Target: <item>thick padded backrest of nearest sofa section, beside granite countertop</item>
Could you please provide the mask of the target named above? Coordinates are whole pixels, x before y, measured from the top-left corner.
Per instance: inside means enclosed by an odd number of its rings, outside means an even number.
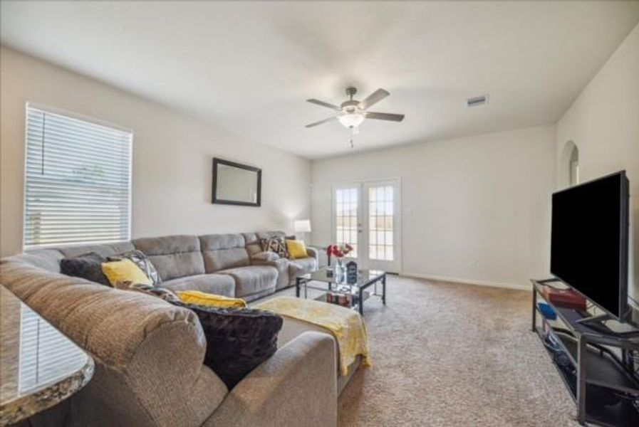
[[[85,349],[93,379],[73,396],[76,425],[196,426],[228,390],[204,367],[197,315],[157,297],[118,290],[18,262],[0,283]]]

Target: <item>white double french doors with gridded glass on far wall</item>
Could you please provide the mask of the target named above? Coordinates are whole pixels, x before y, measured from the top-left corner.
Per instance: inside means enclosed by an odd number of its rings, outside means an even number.
[[[400,273],[400,181],[333,185],[333,239],[360,268]]]

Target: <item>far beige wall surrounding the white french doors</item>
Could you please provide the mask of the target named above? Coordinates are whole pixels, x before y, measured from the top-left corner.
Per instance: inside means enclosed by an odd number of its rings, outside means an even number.
[[[402,272],[529,288],[549,270],[554,127],[313,162],[313,243],[331,241],[331,184],[402,180]]]

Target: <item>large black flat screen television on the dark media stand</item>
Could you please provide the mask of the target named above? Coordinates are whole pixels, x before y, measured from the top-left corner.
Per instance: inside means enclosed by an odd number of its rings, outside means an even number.
[[[551,273],[618,320],[628,313],[628,197],[625,171],[552,197]]]

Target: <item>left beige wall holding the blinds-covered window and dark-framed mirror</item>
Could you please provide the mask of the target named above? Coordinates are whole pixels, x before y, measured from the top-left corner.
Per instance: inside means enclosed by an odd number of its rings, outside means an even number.
[[[7,48],[0,61],[0,255],[21,251],[28,101],[133,129],[133,237],[292,231],[308,218],[308,160]],[[261,208],[211,204],[214,156],[261,167]]]

